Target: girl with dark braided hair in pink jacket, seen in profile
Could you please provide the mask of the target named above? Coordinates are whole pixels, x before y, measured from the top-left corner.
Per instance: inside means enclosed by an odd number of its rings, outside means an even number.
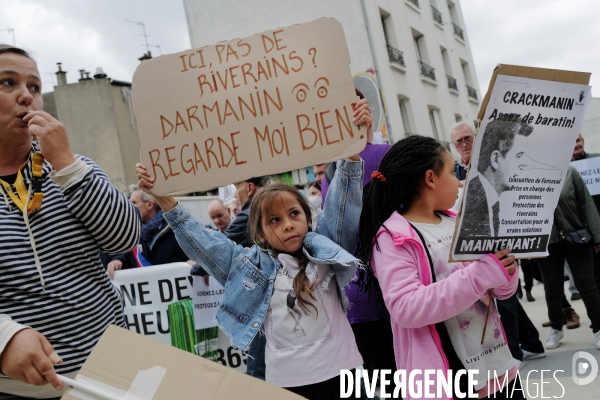
[[[437,370],[446,377],[449,370],[452,377],[479,370],[474,387],[466,374],[453,380],[452,394],[524,398],[490,301],[516,291],[516,263],[510,249],[473,263],[448,261],[456,219],[449,209],[458,185],[454,160],[436,140],[410,136],[394,144],[363,189],[357,252],[366,276],[360,280],[383,296],[399,370]],[[421,382],[424,390],[427,382]],[[428,392],[436,394],[434,388]]]

